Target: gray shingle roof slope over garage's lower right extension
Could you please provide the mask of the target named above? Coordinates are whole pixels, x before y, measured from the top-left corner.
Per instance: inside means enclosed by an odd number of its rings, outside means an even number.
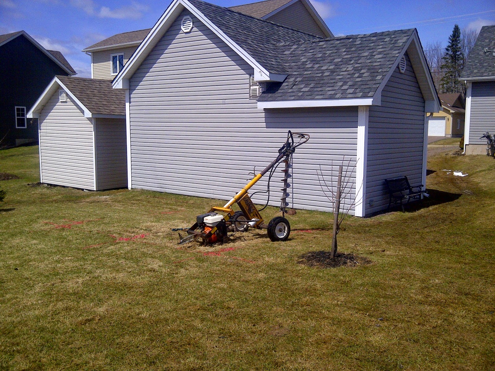
[[[258,101],[371,97],[415,32],[386,31],[279,45],[288,77]]]

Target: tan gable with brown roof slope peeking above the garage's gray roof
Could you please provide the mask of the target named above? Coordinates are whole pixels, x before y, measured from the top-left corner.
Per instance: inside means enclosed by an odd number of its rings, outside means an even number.
[[[230,10],[323,38],[334,35],[308,0],[266,0],[232,6]]]

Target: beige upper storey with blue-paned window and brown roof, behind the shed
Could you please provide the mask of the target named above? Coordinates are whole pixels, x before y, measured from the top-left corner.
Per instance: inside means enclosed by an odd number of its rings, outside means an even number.
[[[83,49],[91,56],[91,78],[112,80],[117,76],[148,32],[124,32]]]

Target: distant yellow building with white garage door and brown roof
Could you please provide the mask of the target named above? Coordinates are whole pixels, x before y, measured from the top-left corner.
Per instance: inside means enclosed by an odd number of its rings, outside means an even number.
[[[428,135],[460,138],[466,110],[461,93],[438,94],[442,108],[428,117]]]

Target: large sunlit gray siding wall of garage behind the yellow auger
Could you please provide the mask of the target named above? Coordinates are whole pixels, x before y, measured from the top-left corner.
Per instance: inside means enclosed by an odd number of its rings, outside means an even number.
[[[344,155],[355,163],[357,107],[267,110],[265,120],[249,98],[252,68],[191,14],[194,29],[182,33],[186,14],[130,79],[132,186],[228,200],[252,178],[254,166],[258,173],[276,157],[291,129],[311,139],[294,155],[289,201],[330,210],[316,171],[321,164],[328,177],[332,160]],[[281,179],[277,171],[271,186],[277,206]],[[265,189],[266,181],[254,189]]]

